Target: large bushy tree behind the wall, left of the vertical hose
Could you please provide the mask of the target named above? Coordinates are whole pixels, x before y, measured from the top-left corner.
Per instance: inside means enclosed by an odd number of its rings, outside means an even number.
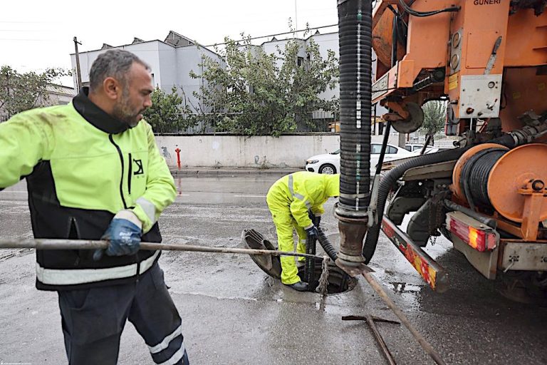
[[[338,60],[333,51],[323,59],[313,38],[306,46],[288,40],[283,50],[271,54],[253,46],[250,37],[243,45],[224,41],[223,63],[204,56],[203,73],[190,73],[204,80],[200,93],[194,92],[197,110],[215,130],[278,136],[295,130],[297,123],[311,124],[314,110],[338,112],[338,99],[318,97],[338,83]]]

